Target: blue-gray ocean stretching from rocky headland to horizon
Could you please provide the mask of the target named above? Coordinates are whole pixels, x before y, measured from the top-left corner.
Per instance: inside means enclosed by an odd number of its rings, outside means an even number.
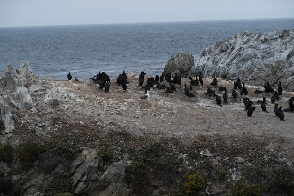
[[[195,61],[218,39],[241,31],[293,29],[294,18],[184,21],[0,28],[0,73],[28,59],[37,76],[67,80],[111,78],[122,70],[161,75],[171,55],[190,52]]]

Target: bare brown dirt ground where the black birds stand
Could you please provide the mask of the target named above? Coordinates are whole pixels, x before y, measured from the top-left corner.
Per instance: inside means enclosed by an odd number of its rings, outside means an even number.
[[[145,76],[143,86],[147,78],[148,76]],[[127,92],[123,92],[122,87],[115,82],[116,79],[111,80],[110,93],[105,93],[98,89],[98,84],[49,81],[52,88],[59,88],[59,92],[54,93],[54,97],[59,99],[59,105],[54,107],[54,112],[42,110],[38,114],[43,122],[52,126],[47,129],[38,127],[42,130],[38,135],[50,137],[52,132],[87,131],[105,137],[110,131],[117,130],[127,131],[136,136],[173,136],[184,143],[191,143],[199,136],[221,135],[232,139],[256,136],[261,140],[282,137],[285,143],[279,145],[289,153],[294,152],[294,113],[284,112],[285,122],[280,121],[274,114],[274,105],[270,103],[272,94],[254,94],[257,87],[245,86],[248,89],[247,96],[240,96],[240,91],[236,90],[238,98],[234,100],[231,95],[233,85],[219,79],[217,88],[211,88],[223,100],[223,92],[218,91],[218,87],[225,86],[229,97],[228,103],[222,102],[220,107],[213,96],[205,95],[212,78],[203,79],[204,87],[192,86],[193,90],[190,92],[198,99],[186,97],[184,94],[184,84],[190,87],[188,78],[182,78],[183,87],[176,85],[177,92],[173,94],[165,93],[165,89],[154,87],[153,90],[151,87],[148,100],[137,100],[144,95],[144,89],[137,87],[138,78],[128,78]],[[169,84],[166,83],[166,86]],[[69,90],[74,92],[75,98],[67,96]],[[43,90],[44,93],[50,91],[50,88]],[[267,99],[266,107],[269,113],[262,112],[260,104],[257,103],[263,96]],[[292,96],[292,92],[283,92],[280,101],[276,103],[282,106],[282,109],[286,109],[288,99]],[[243,111],[244,97],[250,98],[253,102],[252,107],[256,107],[252,117],[247,117],[247,111]],[[39,98],[34,99],[37,101]],[[18,129],[18,134],[20,133],[21,128]],[[271,145],[276,144],[269,142],[269,146]],[[290,155],[294,157],[292,153]]]

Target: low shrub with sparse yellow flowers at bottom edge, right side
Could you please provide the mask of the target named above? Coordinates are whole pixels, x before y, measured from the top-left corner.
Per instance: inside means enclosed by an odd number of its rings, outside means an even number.
[[[247,185],[239,182],[233,187],[229,196],[260,196],[260,188],[258,185]]]

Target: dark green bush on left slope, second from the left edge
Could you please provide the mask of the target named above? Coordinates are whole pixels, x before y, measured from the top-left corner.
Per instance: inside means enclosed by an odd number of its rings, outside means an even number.
[[[23,147],[16,151],[16,155],[19,157],[20,170],[28,170],[34,167],[34,161],[44,152],[44,149],[40,144],[34,141],[26,142]]]

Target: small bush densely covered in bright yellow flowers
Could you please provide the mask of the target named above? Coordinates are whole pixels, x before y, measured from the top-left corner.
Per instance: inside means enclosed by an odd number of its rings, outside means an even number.
[[[188,176],[188,182],[185,182],[183,185],[184,195],[192,196],[199,193],[201,194],[201,190],[203,188],[204,179],[196,174]]]

